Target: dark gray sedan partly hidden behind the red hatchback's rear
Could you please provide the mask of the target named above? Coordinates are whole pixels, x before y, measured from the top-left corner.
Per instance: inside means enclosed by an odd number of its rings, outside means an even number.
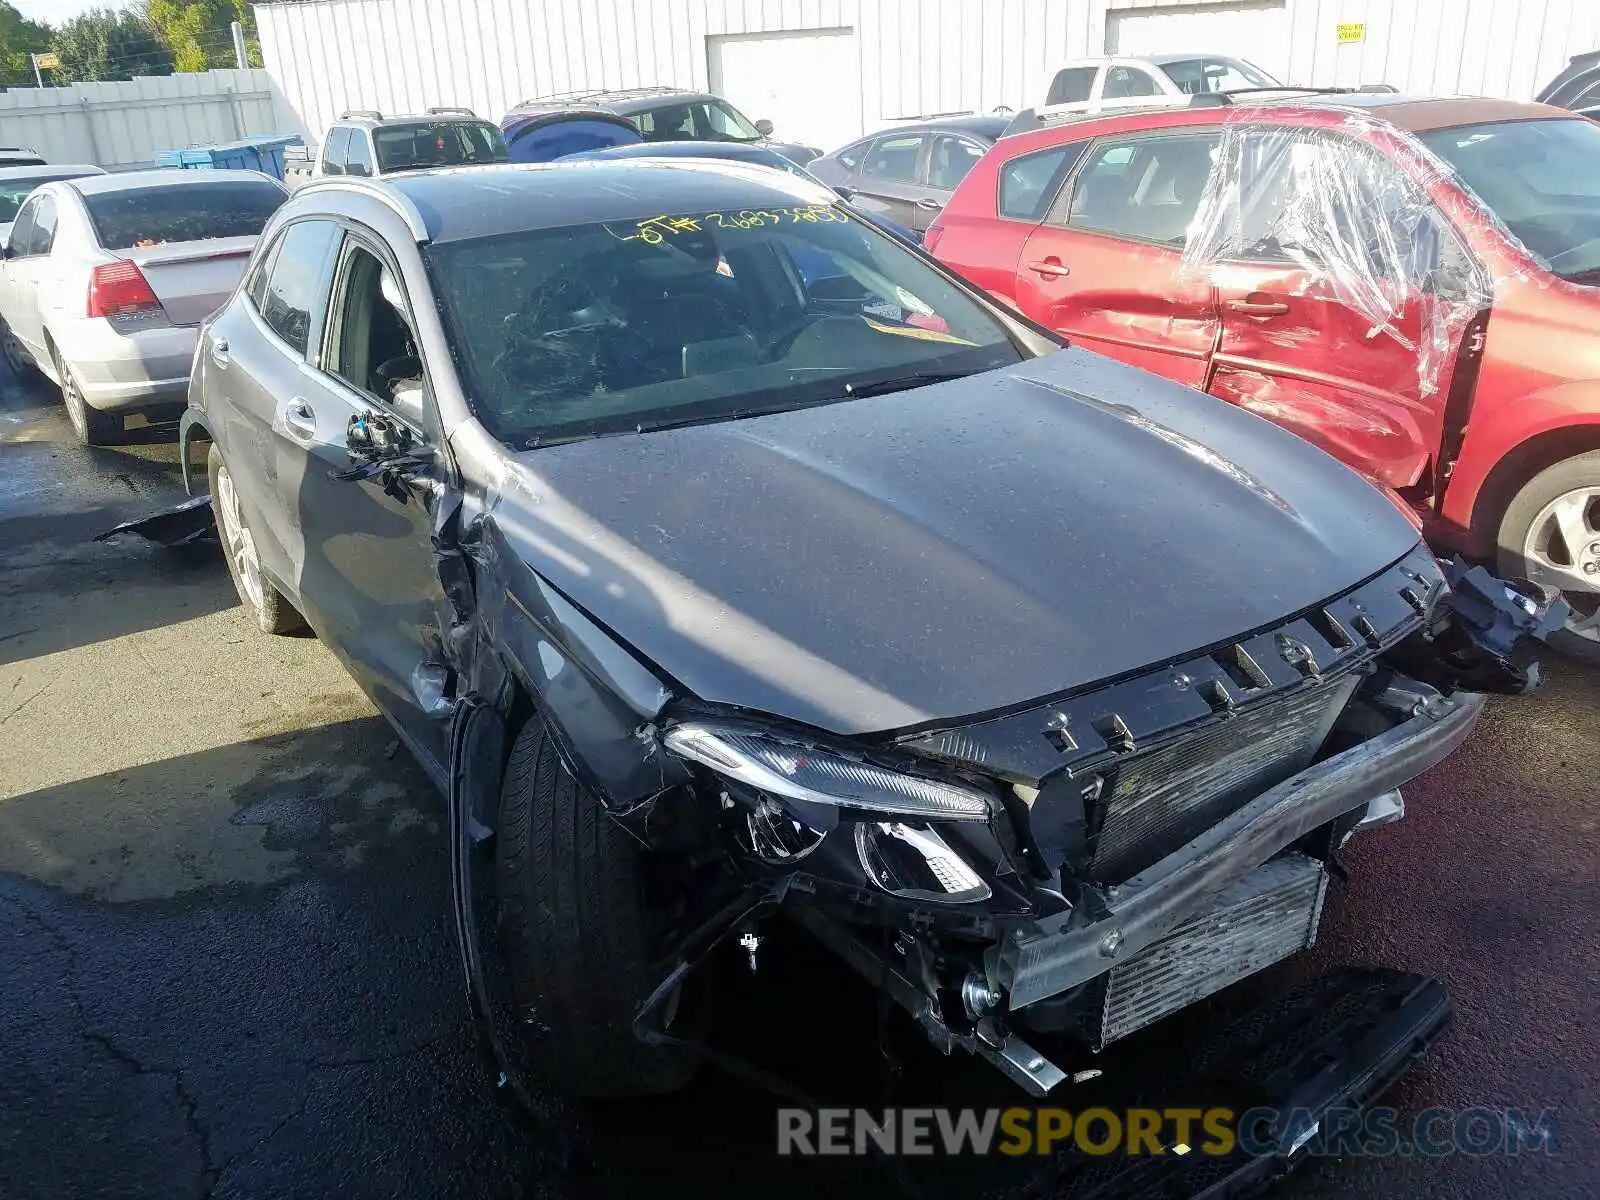
[[[920,234],[1010,123],[1010,115],[990,114],[896,125],[813,158],[806,170]]]

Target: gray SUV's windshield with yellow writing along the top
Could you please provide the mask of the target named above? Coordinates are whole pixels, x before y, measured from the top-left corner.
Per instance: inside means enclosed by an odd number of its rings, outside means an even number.
[[[829,205],[680,213],[427,250],[480,421],[509,445],[779,411],[1022,355]]]

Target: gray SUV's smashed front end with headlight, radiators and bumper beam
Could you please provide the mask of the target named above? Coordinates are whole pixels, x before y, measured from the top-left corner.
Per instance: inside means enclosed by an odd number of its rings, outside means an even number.
[[[1458,590],[1451,589],[1458,586]],[[1411,555],[1312,611],[958,726],[826,744],[680,709],[738,870],[944,1051],[1034,1094],[1312,944],[1339,846],[1403,814],[1560,602]],[[771,906],[768,906],[771,907]]]

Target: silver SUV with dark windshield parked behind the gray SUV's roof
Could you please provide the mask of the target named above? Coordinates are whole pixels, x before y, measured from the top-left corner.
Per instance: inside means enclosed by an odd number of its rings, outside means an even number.
[[[314,178],[472,166],[506,158],[499,126],[472,109],[440,106],[421,117],[386,117],[376,109],[358,109],[328,126]]]

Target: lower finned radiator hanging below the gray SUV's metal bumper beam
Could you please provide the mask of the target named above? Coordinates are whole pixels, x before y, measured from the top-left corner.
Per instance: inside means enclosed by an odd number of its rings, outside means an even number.
[[[1286,854],[1245,875],[1210,912],[1114,966],[1099,1046],[1310,946],[1326,888],[1322,862]]]

